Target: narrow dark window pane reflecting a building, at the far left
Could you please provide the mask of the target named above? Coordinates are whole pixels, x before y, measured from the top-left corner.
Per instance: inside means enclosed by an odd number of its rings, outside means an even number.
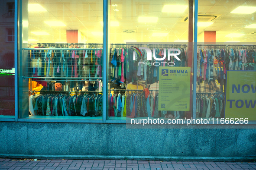
[[[0,117],[14,117],[14,3],[2,0],[0,6]]]

